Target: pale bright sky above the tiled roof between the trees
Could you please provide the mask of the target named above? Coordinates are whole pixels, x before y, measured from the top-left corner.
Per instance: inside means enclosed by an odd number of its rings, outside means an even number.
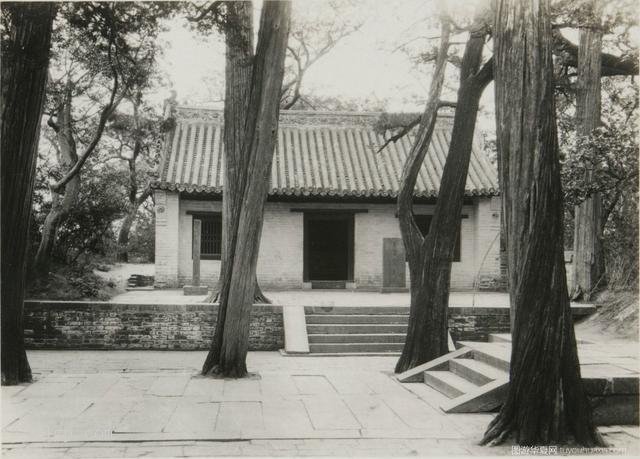
[[[388,111],[421,111],[429,75],[424,69],[416,69],[407,55],[396,48],[412,38],[437,35],[437,24],[434,28],[426,21],[431,19],[433,22],[441,7],[459,16],[460,12],[470,14],[473,3],[476,2],[352,0],[347,13],[351,13],[356,22],[362,21],[363,26],[309,69],[303,91],[331,97],[379,100],[385,102]],[[256,4],[256,14],[259,7]],[[322,0],[294,0],[293,8],[294,15],[307,20],[328,11],[327,2]],[[258,20],[255,23],[257,27]],[[170,31],[162,38],[168,42],[168,47],[161,68],[173,83],[178,101],[202,105],[221,99],[224,87],[222,37],[214,33],[204,38],[190,31],[185,21],[174,20]],[[420,39],[412,42],[412,46],[428,50],[437,43],[437,40]],[[167,95],[168,88],[165,94],[158,94],[161,99]]]

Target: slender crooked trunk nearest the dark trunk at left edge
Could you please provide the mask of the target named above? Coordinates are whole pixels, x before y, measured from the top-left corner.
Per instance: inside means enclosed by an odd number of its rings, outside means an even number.
[[[71,103],[72,87],[71,82],[68,82],[64,94],[60,96],[57,104],[57,123],[49,123],[56,132],[57,160],[65,174],[78,162],[76,143],[73,138]],[[78,201],[80,172],[74,174],[66,185],[62,187],[51,186],[50,190],[51,209],[44,220],[42,239],[34,262],[34,271],[40,276],[49,272],[51,255],[60,223]]]

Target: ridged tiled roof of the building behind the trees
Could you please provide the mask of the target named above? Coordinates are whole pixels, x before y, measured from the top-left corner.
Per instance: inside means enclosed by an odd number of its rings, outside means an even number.
[[[271,170],[271,196],[395,198],[413,135],[389,144],[373,125],[377,113],[282,111]],[[222,192],[222,112],[179,107],[156,189]],[[451,116],[441,116],[416,184],[435,197],[451,140]],[[498,192],[496,171],[474,145],[465,194]]]

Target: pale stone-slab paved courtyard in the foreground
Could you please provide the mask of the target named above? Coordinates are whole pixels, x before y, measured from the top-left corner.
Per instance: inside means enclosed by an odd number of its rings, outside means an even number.
[[[204,352],[30,351],[36,382],[2,388],[3,457],[433,456],[477,446],[489,414],[391,377],[395,357],[250,353],[253,378],[198,376]],[[637,427],[603,429],[636,454]]]

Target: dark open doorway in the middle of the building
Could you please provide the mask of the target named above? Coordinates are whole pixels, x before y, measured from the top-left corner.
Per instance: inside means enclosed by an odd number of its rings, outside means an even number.
[[[353,279],[353,214],[305,213],[304,280]]]

